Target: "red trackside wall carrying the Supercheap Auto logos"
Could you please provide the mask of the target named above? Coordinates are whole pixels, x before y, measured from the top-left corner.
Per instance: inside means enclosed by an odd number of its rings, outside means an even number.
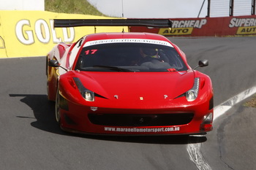
[[[224,18],[174,18],[173,28],[132,27],[131,31],[164,36],[247,36],[256,35],[256,15]]]

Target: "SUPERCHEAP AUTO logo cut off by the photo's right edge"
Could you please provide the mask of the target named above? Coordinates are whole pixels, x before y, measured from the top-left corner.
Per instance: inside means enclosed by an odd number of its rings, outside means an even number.
[[[237,35],[256,34],[256,18],[232,18],[230,28],[238,28]]]

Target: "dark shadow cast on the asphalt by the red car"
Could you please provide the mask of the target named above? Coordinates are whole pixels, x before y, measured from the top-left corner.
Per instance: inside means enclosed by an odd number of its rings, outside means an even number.
[[[86,134],[69,134],[61,131],[55,118],[55,104],[48,101],[46,95],[33,94],[10,94],[10,97],[24,97],[21,102],[28,105],[34,112],[34,117],[18,118],[35,118],[37,121],[32,122],[31,126],[42,131],[48,131],[53,134],[67,136],[76,136],[88,139],[106,140],[114,142],[134,142],[146,144],[193,144],[206,142],[206,136],[186,136],[186,135],[167,135],[167,136],[104,136],[104,135],[86,135]]]

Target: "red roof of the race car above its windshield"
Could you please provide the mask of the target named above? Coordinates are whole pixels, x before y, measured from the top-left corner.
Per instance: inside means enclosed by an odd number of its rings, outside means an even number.
[[[97,33],[86,36],[86,41],[95,41],[100,39],[154,39],[169,42],[165,36],[151,33]]]

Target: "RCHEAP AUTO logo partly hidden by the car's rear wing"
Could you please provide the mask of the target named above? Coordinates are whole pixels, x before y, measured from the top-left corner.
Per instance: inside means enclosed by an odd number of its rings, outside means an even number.
[[[207,20],[173,20],[172,28],[160,28],[159,33],[164,36],[190,35],[194,28],[202,28]]]

